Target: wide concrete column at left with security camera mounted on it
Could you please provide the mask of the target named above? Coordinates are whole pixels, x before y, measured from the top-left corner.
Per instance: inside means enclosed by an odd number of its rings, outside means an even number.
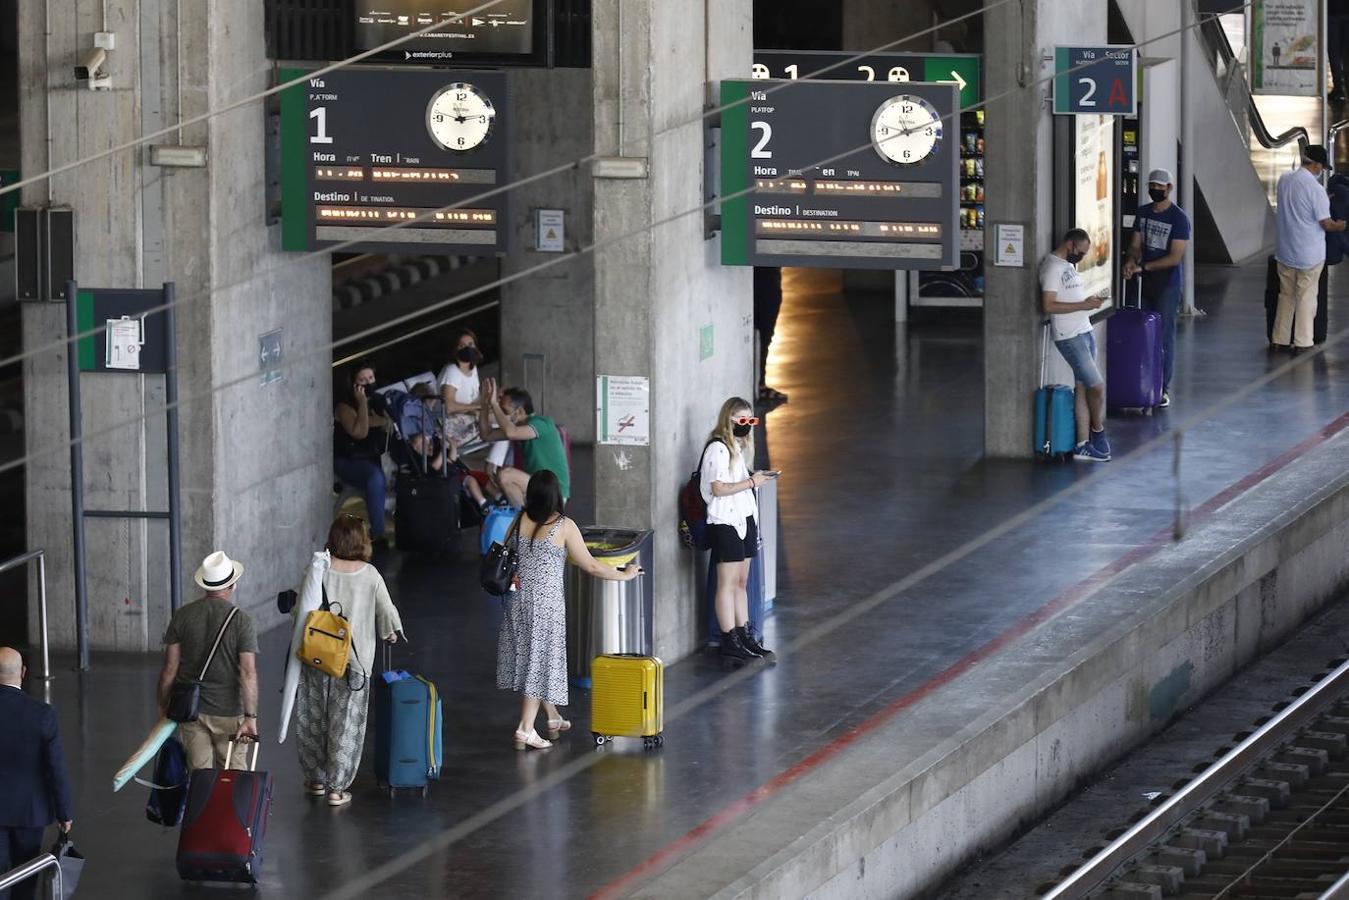
[[[248,0],[161,4],[73,0],[20,4],[23,171],[34,174],[123,143],[147,130],[220,107],[267,86],[263,9]],[[90,92],[70,77],[94,31],[112,31],[113,88]],[[262,104],[193,125],[161,143],[204,146],[205,169],[156,169],[144,148],[80,166],[24,193],[26,202],[76,210],[76,274],[97,287],[174,281],[182,439],[185,599],[197,561],[225,549],[244,561],[239,599],[259,626],[277,621],[277,590],[293,586],[321,545],[331,514],[331,382],[320,355],[262,387],[258,337],[283,328],[295,359],[331,339],[324,259],[297,262],[274,247],[264,210]],[[65,310],[28,305],[24,347],[65,337]],[[51,638],[71,646],[70,514],[65,348],[24,364],[27,532],[47,549]],[[88,509],[165,509],[161,376],[82,379],[85,433],[121,422],[85,444]],[[89,522],[89,623],[96,649],[156,649],[169,614],[167,528],[162,522]],[[30,615],[30,621],[36,621]]]

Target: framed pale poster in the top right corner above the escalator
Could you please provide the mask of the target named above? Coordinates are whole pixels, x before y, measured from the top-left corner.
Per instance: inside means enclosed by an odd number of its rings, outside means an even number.
[[[1251,5],[1251,90],[1315,97],[1318,0],[1255,0]]]

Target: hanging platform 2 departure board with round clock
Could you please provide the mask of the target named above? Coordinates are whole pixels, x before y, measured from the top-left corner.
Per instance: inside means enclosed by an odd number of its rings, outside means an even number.
[[[722,263],[954,269],[958,86],[782,84],[722,82]]]

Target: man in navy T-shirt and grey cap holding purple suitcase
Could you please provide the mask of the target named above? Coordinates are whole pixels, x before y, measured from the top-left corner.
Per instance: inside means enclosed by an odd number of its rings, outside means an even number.
[[[1190,243],[1190,217],[1171,202],[1171,173],[1153,169],[1148,174],[1152,202],[1139,208],[1124,277],[1143,275],[1143,305],[1161,313],[1161,405],[1171,405],[1171,375],[1175,372],[1176,316],[1184,285],[1182,260]]]

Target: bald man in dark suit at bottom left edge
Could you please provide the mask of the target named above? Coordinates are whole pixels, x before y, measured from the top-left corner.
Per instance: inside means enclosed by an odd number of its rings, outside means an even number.
[[[70,831],[73,818],[57,711],[23,692],[23,675],[19,652],[0,646],[0,872],[40,855],[42,830],[59,822]],[[35,889],[30,878],[13,888],[13,900]]]

